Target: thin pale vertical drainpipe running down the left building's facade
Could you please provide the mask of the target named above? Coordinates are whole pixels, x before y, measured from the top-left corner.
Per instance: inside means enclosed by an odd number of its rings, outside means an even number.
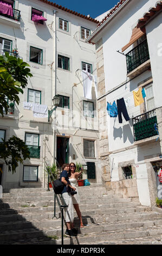
[[[54,40],[54,66],[55,66],[55,70],[54,70],[54,75],[55,75],[55,78],[54,78],[54,89],[53,89],[53,93],[55,96],[56,95],[56,92],[57,92],[57,36],[56,36],[56,11],[57,10],[53,10],[53,13],[54,13],[54,36],[55,36],[55,40]],[[56,115],[56,111],[54,111],[54,115]],[[55,124],[55,118],[54,118],[54,124]],[[56,153],[56,129],[55,129],[55,125],[53,127],[53,163],[55,163],[55,153]]]

